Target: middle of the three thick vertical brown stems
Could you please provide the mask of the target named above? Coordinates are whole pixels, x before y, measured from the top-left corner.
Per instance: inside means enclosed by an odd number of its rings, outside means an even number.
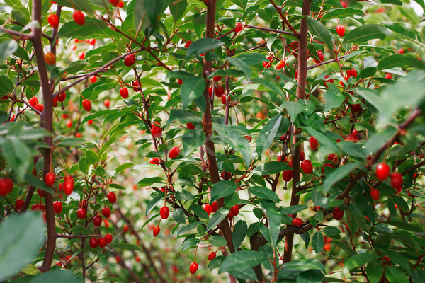
[[[215,5],[216,0],[210,0],[207,4],[207,31],[206,36],[208,38],[214,38],[214,27],[215,27]],[[211,61],[205,61],[202,76],[207,78],[208,74],[211,73],[212,70],[212,62]],[[208,94],[208,82],[205,86],[204,90],[204,97],[206,101],[206,110],[203,114],[203,131],[205,132],[205,151],[207,153],[208,158],[208,171],[210,172],[210,178],[212,183],[217,183],[220,181],[220,177],[218,175],[218,167],[217,167],[217,160],[215,157],[215,146],[214,143],[211,140],[212,137],[212,116],[211,116],[211,108],[210,108],[210,95]],[[214,95],[212,96],[212,99],[214,99]],[[217,207],[224,206],[224,200],[221,198],[217,200]],[[227,241],[227,247],[230,250],[230,253],[234,253],[234,246],[232,243],[232,230],[230,229],[229,222],[227,221],[227,218],[225,218],[220,223],[220,229],[222,230],[223,236],[225,237]]]

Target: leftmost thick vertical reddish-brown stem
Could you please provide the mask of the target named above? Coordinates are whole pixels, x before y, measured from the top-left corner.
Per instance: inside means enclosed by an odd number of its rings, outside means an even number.
[[[41,0],[33,1],[33,21],[37,21],[41,27]],[[35,59],[38,65],[38,74],[40,76],[40,85],[42,89],[42,97],[44,110],[41,115],[41,127],[47,129],[50,133],[53,132],[53,112],[52,112],[52,92],[50,91],[49,78],[47,68],[42,51],[41,30],[33,28],[32,40],[35,51]],[[45,143],[50,148],[44,150],[44,168],[43,175],[50,172],[52,169],[52,135],[45,136]],[[47,222],[47,246],[45,258],[42,262],[41,270],[50,270],[55,253],[56,246],[56,231],[55,231],[55,213],[53,212],[53,196],[45,192],[45,207],[46,207],[46,222]]]

